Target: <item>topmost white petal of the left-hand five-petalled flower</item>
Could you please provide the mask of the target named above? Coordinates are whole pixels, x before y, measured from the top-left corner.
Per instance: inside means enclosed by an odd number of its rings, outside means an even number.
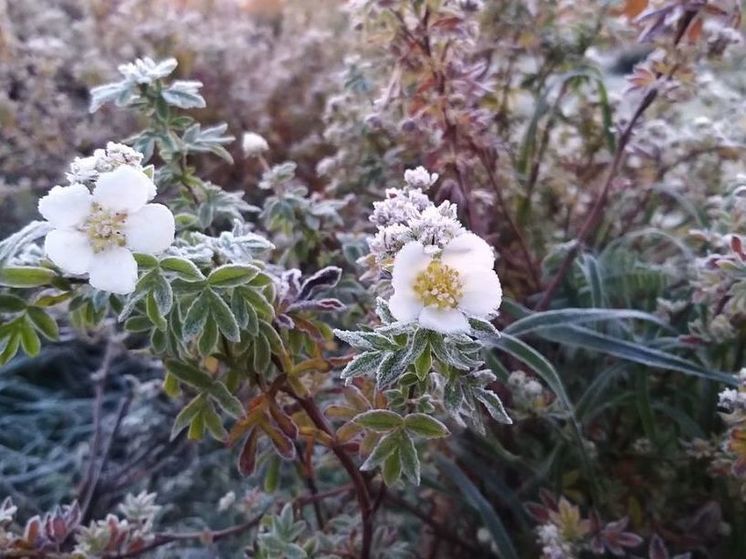
[[[115,212],[136,212],[148,201],[155,186],[148,175],[122,165],[101,173],[93,189],[93,200]]]

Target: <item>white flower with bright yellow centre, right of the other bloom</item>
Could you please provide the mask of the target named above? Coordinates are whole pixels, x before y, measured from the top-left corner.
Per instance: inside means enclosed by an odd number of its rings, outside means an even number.
[[[459,235],[438,256],[417,241],[407,243],[394,259],[391,312],[443,334],[468,332],[467,317],[486,318],[500,307],[494,262],[490,246],[473,233]]]

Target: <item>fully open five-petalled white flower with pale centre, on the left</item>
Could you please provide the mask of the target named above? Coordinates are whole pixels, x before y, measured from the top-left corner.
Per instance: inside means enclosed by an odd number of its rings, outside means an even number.
[[[39,201],[54,229],[44,250],[68,274],[88,274],[93,287],[130,293],[137,282],[132,252],[156,254],[174,240],[174,216],[148,204],[155,185],[142,171],[121,166],[101,173],[91,194],[84,185],[55,186]]]

